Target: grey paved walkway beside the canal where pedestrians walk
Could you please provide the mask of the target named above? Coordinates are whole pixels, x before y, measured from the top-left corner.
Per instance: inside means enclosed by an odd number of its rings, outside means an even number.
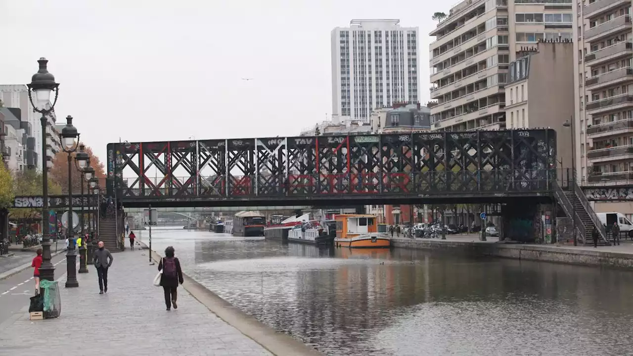
[[[104,295],[94,267],[77,275],[79,288],[63,288],[61,278],[58,319],[29,321],[25,296],[20,315],[0,324],[0,355],[272,355],[182,287],[179,308],[167,312],[163,289],[152,284],[158,270],[148,265],[148,252],[115,253]]]

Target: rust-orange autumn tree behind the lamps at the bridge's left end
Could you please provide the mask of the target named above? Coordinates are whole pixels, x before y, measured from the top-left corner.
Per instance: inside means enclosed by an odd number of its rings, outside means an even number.
[[[86,146],[85,151],[90,157],[90,165],[94,168],[94,174],[99,178],[99,185],[104,187],[106,185],[106,174],[104,171],[103,163],[99,161],[99,157],[92,153],[92,149]],[[81,193],[82,174],[77,170],[75,165],[75,156],[77,152],[71,154],[71,177],[72,177],[72,191],[73,194]],[[61,187],[62,194],[68,194],[68,153],[59,151],[53,159],[53,167],[49,174],[55,184]],[[87,193],[86,186],[84,185],[84,193]]]

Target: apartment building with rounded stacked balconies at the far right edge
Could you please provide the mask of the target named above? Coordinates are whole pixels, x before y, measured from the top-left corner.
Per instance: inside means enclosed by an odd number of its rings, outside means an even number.
[[[583,185],[633,179],[631,1],[577,3],[577,162]],[[633,213],[630,203],[596,203],[597,212]]]

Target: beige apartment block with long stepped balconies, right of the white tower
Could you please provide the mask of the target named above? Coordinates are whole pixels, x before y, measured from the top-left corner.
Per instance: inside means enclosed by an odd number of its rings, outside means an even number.
[[[451,8],[430,33],[432,129],[505,129],[510,62],[572,32],[572,0],[466,0]]]

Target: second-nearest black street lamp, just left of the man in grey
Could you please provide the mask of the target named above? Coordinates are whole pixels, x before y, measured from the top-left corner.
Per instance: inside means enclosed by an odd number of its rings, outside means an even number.
[[[72,184],[72,153],[77,151],[79,143],[79,133],[73,126],[73,117],[66,117],[66,126],[61,129],[61,139],[64,152],[68,153],[68,227],[66,227],[66,238],[68,239],[68,252],[66,252],[66,267],[68,277],[66,288],[78,287],[77,281],[77,252],[75,251],[75,231],[73,229],[73,184]],[[85,162],[84,162],[85,164]]]

